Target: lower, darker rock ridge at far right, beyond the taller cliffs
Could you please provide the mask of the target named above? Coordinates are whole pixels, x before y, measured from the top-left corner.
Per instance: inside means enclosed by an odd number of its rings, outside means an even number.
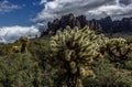
[[[98,20],[106,33],[132,32],[132,18],[123,18],[121,21],[112,21],[110,17]]]

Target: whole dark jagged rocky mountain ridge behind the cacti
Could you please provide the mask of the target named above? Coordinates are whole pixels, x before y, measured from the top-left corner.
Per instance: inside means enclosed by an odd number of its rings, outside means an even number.
[[[121,21],[112,21],[110,17],[100,20],[87,20],[85,15],[75,17],[73,13],[63,15],[47,23],[47,30],[41,36],[46,34],[55,34],[57,30],[64,30],[67,25],[84,28],[89,25],[91,30],[103,33],[132,32],[132,18],[123,18]]]

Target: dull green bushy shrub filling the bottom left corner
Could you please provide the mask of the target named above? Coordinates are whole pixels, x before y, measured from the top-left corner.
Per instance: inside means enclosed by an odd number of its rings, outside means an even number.
[[[0,85],[3,87],[41,87],[37,84],[42,77],[37,63],[28,53],[0,57]]]

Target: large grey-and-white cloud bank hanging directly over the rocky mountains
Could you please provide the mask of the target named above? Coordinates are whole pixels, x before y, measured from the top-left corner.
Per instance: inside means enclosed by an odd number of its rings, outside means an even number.
[[[42,0],[41,4],[44,9],[33,21],[48,21],[68,13],[85,14],[87,19],[132,17],[132,0]]]

